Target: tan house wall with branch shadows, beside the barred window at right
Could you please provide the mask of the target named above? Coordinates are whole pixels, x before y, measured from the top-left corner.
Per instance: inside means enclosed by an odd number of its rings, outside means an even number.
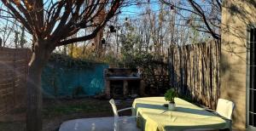
[[[246,128],[247,26],[256,24],[256,0],[224,0],[220,98],[236,104],[233,127]]]

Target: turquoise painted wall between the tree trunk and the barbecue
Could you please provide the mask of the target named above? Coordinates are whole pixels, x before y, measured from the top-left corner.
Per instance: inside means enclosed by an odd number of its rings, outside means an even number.
[[[106,64],[67,67],[49,62],[42,74],[44,98],[77,98],[100,94],[104,90]]]

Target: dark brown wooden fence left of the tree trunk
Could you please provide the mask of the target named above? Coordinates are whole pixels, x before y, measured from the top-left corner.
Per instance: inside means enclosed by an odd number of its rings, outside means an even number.
[[[25,104],[29,53],[25,48],[0,48],[0,115]]]

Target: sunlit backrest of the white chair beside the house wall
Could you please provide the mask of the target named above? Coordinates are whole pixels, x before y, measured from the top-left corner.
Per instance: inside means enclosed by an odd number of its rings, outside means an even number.
[[[218,99],[218,105],[217,105],[216,111],[220,116],[231,120],[234,109],[235,109],[235,104],[232,101]]]

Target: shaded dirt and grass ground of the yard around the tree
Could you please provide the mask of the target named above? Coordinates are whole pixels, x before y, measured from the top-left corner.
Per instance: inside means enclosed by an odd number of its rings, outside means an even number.
[[[127,100],[116,101],[118,109],[131,106]],[[44,100],[43,130],[57,131],[62,122],[86,117],[112,117],[113,110],[108,100],[84,98],[79,100]],[[126,111],[121,115],[131,115]],[[0,131],[25,131],[26,109],[19,108],[0,116]]]

